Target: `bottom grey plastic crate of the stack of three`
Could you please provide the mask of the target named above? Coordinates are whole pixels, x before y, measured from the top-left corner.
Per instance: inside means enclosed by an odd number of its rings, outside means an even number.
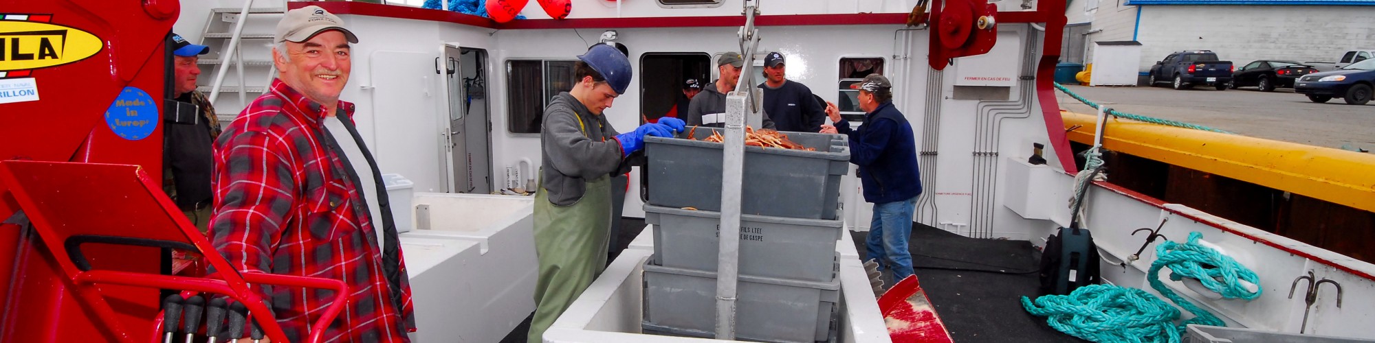
[[[716,273],[645,262],[644,329],[710,336],[716,327]],[[826,342],[840,302],[840,279],[810,283],[740,276],[736,338]]]

